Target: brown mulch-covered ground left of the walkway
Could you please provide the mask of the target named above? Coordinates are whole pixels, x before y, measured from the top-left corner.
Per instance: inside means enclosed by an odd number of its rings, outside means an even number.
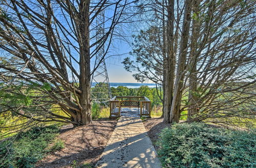
[[[99,160],[116,122],[93,121],[90,125],[74,129],[72,125],[63,127],[58,138],[65,142],[65,148],[48,155],[36,167],[93,167]]]

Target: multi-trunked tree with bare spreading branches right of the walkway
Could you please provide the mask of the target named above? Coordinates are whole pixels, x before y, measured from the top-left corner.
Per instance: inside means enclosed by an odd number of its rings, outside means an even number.
[[[148,2],[148,3],[145,3]],[[253,1],[140,1],[148,24],[123,61],[163,88],[164,121],[243,123],[255,106]]]

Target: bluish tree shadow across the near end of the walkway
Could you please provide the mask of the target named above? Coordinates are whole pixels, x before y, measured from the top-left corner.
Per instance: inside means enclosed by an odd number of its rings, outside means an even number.
[[[145,133],[108,145],[98,162],[100,167],[160,167],[156,151]],[[129,153],[133,155],[129,155]],[[154,166],[152,166],[154,165]],[[157,166],[158,165],[158,166]]]

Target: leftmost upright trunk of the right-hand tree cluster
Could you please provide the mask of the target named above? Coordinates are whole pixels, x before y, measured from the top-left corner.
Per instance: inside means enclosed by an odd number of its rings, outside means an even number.
[[[168,1],[167,18],[167,58],[165,74],[165,93],[164,93],[164,119],[163,122],[169,123],[170,107],[173,100],[174,71],[175,71],[175,53],[174,53],[174,1]]]

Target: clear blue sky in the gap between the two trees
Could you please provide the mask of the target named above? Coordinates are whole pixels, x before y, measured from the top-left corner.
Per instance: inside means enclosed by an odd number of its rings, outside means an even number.
[[[133,8],[131,8],[130,10],[133,10]],[[105,10],[104,15],[108,18],[111,18],[113,15],[113,11],[111,10],[111,8],[109,10]],[[109,24],[110,22],[106,21],[105,28],[108,27]],[[127,72],[121,62],[124,58],[130,57],[129,52],[132,50],[130,44],[133,41],[133,38],[131,37],[133,34],[136,34],[137,31],[139,31],[140,29],[141,25],[138,25],[137,23],[121,23],[116,27],[115,31],[117,32],[117,36],[113,37],[111,48],[109,49],[108,54],[105,57],[105,63],[108,70],[110,82],[137,82],[137,80],[135,80],[132,76],[132,74],[136,72]],[[126,40],[118,35],[124,35]],[[95,64],[94,60],[95,58],[91,60],[92,68]],[[152,81],[146,80],[145,83],[152,83]]]

